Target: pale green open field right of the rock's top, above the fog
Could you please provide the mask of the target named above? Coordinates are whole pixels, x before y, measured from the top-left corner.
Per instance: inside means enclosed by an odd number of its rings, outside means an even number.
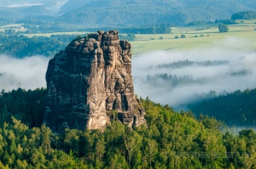
[[[187,26],[173,27],[171,34],[137,34],[137,40],[131,42],[134,55],[154,50],[181,50],[189,48],[209,47],[212,43],[228,37],[247,39],[256,44],[256,24],[229,25],[229,32],[219,33],[218,26]],[[178,38],[185,35],[186,38]],[[197,37],[195,37],[197,36]],[[163,37],[162,40],[159,38]],[[150,40],[149,38],[154,38]],[[249,45],[245,50],[256,50],[256,46]]]

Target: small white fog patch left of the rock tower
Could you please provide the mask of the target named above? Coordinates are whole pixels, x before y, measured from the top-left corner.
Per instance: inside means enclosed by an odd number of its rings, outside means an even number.
[[[45,72],[49,58],[42,56],[15,59],[0,55],[0,90],[9,91],[18,87],[35,89],[46,87]]]

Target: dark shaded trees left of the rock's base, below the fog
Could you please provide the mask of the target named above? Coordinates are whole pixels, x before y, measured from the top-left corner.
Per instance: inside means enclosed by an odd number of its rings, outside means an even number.
[[[1,124],[10,116],[26,123],[29,127],[40,127],[46,106],[46,89],[24,90],[18,88],[0,95]]]

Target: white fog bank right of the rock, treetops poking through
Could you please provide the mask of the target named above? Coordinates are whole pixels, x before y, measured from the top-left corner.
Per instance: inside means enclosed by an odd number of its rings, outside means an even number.
[[[132,59],[135,93],[179,109],[195,101],[195,94],[254,88],[256,52],[244,50],[252,45],[256,46],[245,39],[227,38],[212,48],[140,54]]]

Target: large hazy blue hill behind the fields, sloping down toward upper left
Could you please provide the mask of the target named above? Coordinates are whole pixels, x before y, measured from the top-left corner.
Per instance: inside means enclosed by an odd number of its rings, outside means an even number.
[[[79,8],[79,0],[62,7],[76,8],[62,14],[60,21],[88,27],[173,23],[185,25],[195,20],[230,19],[232,14],[256,9],[253,0],[89,0]]]

